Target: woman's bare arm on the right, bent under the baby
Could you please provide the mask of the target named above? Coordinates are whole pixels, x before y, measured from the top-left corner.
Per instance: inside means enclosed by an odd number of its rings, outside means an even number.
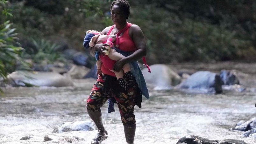
[[[146,40],[140,27],[133,24],[129,29],[129,35],[137,49],[130,56],[118,60],[113,67],[113,71],[119,72],[124,64],[139,60],[143,56],[146,56]]]

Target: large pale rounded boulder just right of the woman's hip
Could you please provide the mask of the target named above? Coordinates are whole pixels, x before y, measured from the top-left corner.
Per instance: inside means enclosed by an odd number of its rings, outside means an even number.
[[[151,73],[148,69],[142,69],[146,84],[154,90],[171,89],[181,82],[181,77],[170,67],[164,64],[150,65]]]

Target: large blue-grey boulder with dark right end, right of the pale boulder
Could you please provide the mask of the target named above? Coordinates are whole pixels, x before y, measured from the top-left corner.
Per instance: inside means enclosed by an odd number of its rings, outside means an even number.
[[[175,86],[175,89],[194,89],[211,93],[222,93],[222,85],[223,81],[219,74],[209,71],[199,71],[193,73],[178,86]]]

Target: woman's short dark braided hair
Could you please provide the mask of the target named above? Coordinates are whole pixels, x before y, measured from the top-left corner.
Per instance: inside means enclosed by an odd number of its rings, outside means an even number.
[[[116,0],[112,2],[110,10],[114,5],[118,5],[123,10],[125,18],[128,19],[130,16],[130,4],[126,0]]]

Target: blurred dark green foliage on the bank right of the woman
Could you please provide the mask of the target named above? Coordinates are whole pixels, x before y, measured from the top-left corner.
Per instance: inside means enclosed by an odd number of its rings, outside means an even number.
[[[146,36],[150,64],[256,60],[253,17],[247,17],[245,25],[245,21],[239,20],[241,15],[231,12],[251,6],[241,1],[236,4],[226,10],[218,7],[224,8],[229,1],[148,1],[132,8],[131,21]]]

